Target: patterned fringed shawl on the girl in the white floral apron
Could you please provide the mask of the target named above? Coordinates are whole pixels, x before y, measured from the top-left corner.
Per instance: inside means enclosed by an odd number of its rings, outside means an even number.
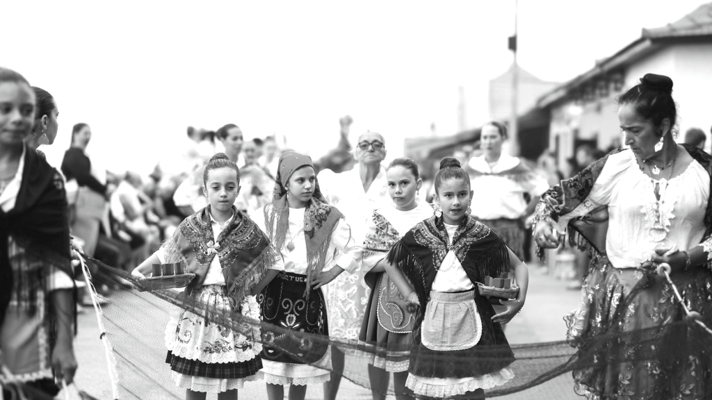
[[[199,288],[213,258],[220,260],[227,295],[234,307],[259,283],[267,268],[281,257],[247,214],[236,209],[229,225],[213,240],[210,206],[184,219],[173,237],[162,244],[167,263],[184,262],[196,274],[187,291]]]

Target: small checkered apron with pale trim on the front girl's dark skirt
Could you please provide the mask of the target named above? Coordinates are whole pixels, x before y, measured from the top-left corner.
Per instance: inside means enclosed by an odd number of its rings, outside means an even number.
[[[450,352],[470,349],[480,341],[482,320],[475,292],[430,292],[425,308],[420,340],[431,350]]]

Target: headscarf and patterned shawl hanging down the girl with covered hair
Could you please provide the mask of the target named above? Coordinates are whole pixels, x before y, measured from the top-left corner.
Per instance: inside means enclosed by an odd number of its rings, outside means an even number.
[[[265,206],[267,234],[276,248],[281,249],[289,228],[289,204],[286,185],[292,174],[301,167],[314,167],[309,156],[297,152],[284,152],[279,157],[272,204]],[[307,295],[315,273],[324,269],[331,233],[343,215],[326,203],[319,181],[315,180],[314,192],[304,211],[304,238],[307,246]]]

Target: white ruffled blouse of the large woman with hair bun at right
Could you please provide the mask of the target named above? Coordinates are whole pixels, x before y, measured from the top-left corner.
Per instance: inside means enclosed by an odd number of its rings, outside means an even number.
[[[687,250],[700,243],[709,187],[709,175],[696,161],[669,181],[653,181],[640,170],[633,152],[625,150],[608,157],[588,198],[562,216],[559,226],[563,231],[570,219],[608,206],[607,256],[615,268],[634,268],[657,247]]]

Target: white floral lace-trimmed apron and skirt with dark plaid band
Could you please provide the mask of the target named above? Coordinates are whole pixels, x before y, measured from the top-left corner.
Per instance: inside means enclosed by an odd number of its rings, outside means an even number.
[[[224,285],[205,285],[193,295],[216,312],[236,311],[259,320],[254,296],[246,296],[240,310],[231,310]],[[172,318],[166,328],[166,362],[171,365],[177,386],[220,393],[260,379],[260,329],[257,323],[244,328],[237,332],[186,310]]]

